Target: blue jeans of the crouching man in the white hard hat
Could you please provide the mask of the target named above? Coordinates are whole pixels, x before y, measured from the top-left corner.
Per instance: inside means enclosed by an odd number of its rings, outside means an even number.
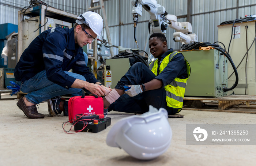
[[[64,72],[76,79],[86,80],[82,75],[67,71]],[[27,100],[34,104],[39,104],[47,99],[66,94],[72,94],[72,97],[82,95],[82,89],[80,88],[67,89],[48,80],[45,70],[37,73],[33,78],[26,80],[23,84],[21,82],[17,82],[17,84],[19,84],[22,92],[28,93],[26,95]]]

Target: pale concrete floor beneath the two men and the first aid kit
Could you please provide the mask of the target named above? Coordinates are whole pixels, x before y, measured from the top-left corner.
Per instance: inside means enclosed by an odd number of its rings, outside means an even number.
[[[109,147],[106,136],[121,118],[133,114],[110,112],[111,125],[99,133],[67,134],[68,117],[48,116],[47,102],[39,105],[44,119],[28,119],[16,106],[16,96],[1,94],[1,166],[254,166],[256,145],[186,145],[186,124],[255,124],[256,114],[182,110],[184,118],[169,118],[173,137],[169,149],[151,161],[140,161],[123,149]],[[70,127],[70,124],[67,125]]]

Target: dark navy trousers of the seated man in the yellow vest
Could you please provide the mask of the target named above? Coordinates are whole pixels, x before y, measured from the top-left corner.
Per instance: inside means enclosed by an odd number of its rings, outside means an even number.
[[[155,74],[143,63],[137,62],[129,68],[128,72],[120,79],[116,89],[125,90],[125,85],[138,85],[150,82],[155,78]],[[161,107],[166,109],[169,115],[176,114],[178,109],[167,106],[165,88],[145,91],[134,97],[127,94],[121,95],[115,102],[109,106],[109,110],[127,113],[145,113],[148,112],[149,105],[157,109]]]

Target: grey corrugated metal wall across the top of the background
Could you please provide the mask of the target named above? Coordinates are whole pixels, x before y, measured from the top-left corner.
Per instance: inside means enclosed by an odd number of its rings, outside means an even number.
[[[178,16],[178,22],[187,21],[187,9],[189,0],[157,0],[165,7],[168,14]],[[79,15],[86,11],[87,0],[44,0],[48,5],[61,9],[65,12]],[[99,2],[94,3],[94,6]],[[112,44],[125,48],[136,48],[133,38],[134,28],[132,21],[132,4],[130,0],[105,0],[104,1],[108,26]],[[18,11],[29,6],[29,0],[0,0],[0,24],[18,24]],[[218,41],[218,25],[227,20],[237,17],[256,14],[256,0],[191,0],[191,23],[193,33],[198,36],[198,41]],[[238,12],[237,12],[238,11]],[[96,10],[102,15],[101,10]],[[150,15],[143,10],[142,17],[136,28],[136,38],[140,49],[148,52],[148,20]],[[173,29],[167,29],[166,38],[168,47],[176,50],[181,48],[180,42],[173,41]],[[106,31],[103,30],[103,38],[107,39]],[[117,54],[118,50],[114,48]]]

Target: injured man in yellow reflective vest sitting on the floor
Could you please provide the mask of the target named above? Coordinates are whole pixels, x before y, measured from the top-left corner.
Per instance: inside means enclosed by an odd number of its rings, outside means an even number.
[[[149,105],[165,108],[169,115],[181,111],[190,66],[180,52],[167,49],[165,35],[152,34],[148,45],[156,60],[149,68],[140,62],[132,65],[103,98],[105,113],[108,110],[144,113]]]

